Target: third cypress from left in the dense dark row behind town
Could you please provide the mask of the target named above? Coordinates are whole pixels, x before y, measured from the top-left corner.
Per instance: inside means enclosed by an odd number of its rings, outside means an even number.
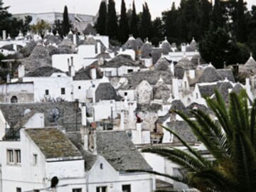
[[[121,43],[125,43],[127,38],[129,37],[129,26],[127,19],[127,11],[124,0],[122,0],[121,4],[121,16],[119,20],[119,41]]]

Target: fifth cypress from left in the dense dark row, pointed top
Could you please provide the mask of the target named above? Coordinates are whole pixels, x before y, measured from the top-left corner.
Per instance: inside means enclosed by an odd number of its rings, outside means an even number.
[[[139,33],[140,37],[142,39],[145,38],[151,38],[151,28],[152,28],[152,23],[151,23],[151,14],[149,12],[149,7],[148,5],[145,4],[143,5],[143,11],[142,11],[142,21],[140,23],[139,27]]]

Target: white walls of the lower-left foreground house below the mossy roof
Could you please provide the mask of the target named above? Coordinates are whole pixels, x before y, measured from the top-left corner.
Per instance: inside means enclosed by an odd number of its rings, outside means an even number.
[[[34,144],[24,129],[21,129],[21,141],[18,142],[0,142],[1,164],[1,183],[2,191],[31,191],[41,189],[48,191],[50,180],[53,176],[59,179],[58,186],[63,192],[69,192],[70,188],[84,188],[85,172],[83,168],[84,161],[80,159],[70,159],[70,161],[59,161],[58,159],[46,159],[41,150]],[[14,150],[14,163],[9,163],[7,150]],[[16,162],[16,151],[21,152],[21,162]],[[36,156],[36,160],[35,160]]]

